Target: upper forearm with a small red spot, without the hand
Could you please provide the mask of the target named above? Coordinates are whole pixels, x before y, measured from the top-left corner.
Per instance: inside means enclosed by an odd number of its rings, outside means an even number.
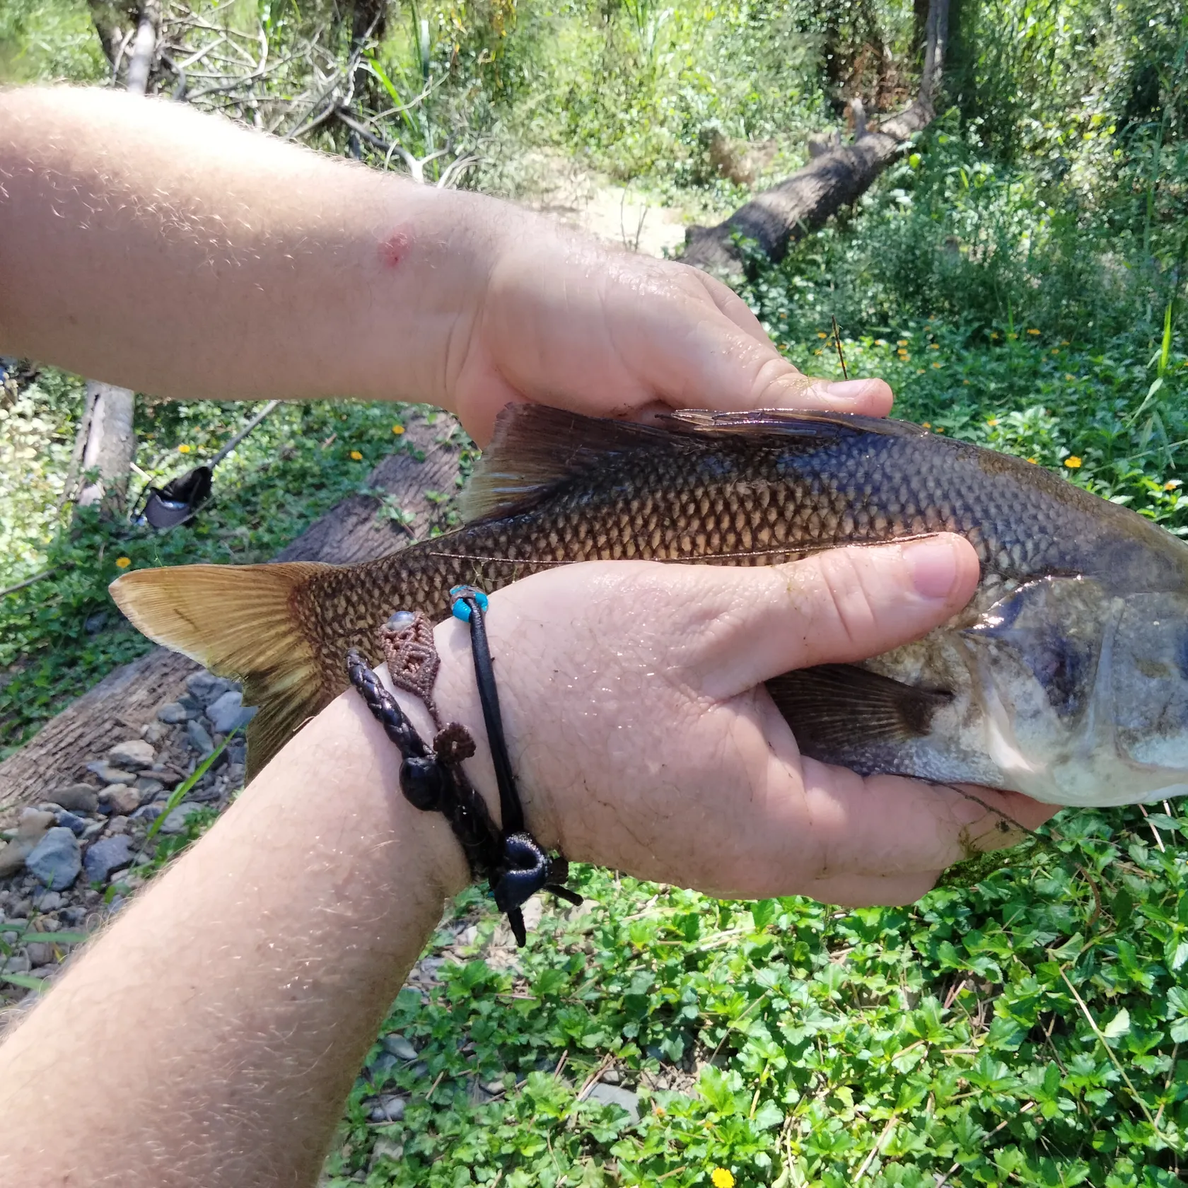
[[[513,214],[166,101],[4,91],[0,350],[175,398],[449,406]]]

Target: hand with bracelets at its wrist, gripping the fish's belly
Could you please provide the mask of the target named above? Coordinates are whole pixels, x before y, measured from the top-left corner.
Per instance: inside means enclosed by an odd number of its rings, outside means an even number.
[[[763,682],[916,639],[977,582],[974,550],[940,536],[752,570],[592,563],[492,595],[530,827],[571,859],[726,897],[917,899],[943,867],[1055,809],[803,758]],[[456,620],[438,626],[436,696],[479,740],[494,804],[467,640]]]

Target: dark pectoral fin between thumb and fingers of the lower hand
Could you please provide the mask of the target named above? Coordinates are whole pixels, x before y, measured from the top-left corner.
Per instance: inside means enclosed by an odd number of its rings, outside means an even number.
[[[933,715],[953,700],[853,664],[820,664],[767,682],[801,751],[815,758],[862,741],[903,742],[929,732]]]

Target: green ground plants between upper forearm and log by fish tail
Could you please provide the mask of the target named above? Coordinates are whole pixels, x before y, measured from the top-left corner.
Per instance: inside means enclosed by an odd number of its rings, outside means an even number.
[[[400,406],[284,405],[219,467],[215,498],[194,524],[154,532],[97,512],[55,511],[81,406],[81,385],[46,369],[0,407],[8,450],[0,467],[7,544],[0,584],[53,569],[0,599],[0,753],[151,646],[107,594],[124,571],[121,558],[127,568],[267,561],[336,503],[366,489],[385,455],[411,448],[392,434]],[[249,411],[235,403],[141,400],[138,466],[153,481],[173,478],[214,454]]]

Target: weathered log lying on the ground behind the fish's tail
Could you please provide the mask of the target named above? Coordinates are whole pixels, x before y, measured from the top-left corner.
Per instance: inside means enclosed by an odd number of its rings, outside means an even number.
[[[409,527],[381,519],[379,499],[352,495],[311,524],[277,561],[353,564],[428,535],[440,510],[425,499],[425,491],[453,491],[457,479],[457,447],[438,443],[447,435],[453,441],[456,422],[441,415],[432,425],[421,418],[409,418],[406,424],[406,440],[424,451],[424,461],[393,454],[375,467],[368,485],[387,492],[412,517]],[[140,727],[152,721],[160,704],[184,693],[185,678],[197,670],[194,661],[157,647],[109,672],[0,763],[0,821],[24,804],[44,800],[55,788],[82,779],[88,763],[102,758],[114,744],[139,737]]]

